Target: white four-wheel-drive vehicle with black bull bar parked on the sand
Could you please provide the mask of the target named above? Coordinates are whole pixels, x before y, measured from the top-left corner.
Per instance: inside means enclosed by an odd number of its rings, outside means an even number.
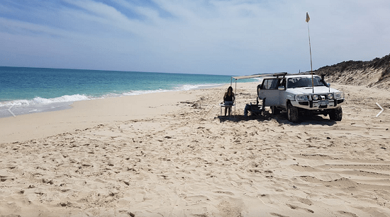
[[[257,95],[271,107],[272,114],[287,111],[290,122],[299,122],[301,115],[329,115],[334,121],[341,121],[344,93],[330,88],[323,78],[311,74],[274,74],[264,77],[257,86]]]

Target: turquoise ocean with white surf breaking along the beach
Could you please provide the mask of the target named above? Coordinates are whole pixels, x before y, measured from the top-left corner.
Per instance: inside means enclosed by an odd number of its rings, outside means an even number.
[[[243,82],[256,81],[247,79]],[[72,102],[230,84],[230,76],[0,66],[0,117],[70,108]]]

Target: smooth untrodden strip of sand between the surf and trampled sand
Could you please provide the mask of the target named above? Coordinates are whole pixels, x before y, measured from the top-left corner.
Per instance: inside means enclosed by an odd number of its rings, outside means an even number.
[[[107,122],[155,117],[162,115],[163,112],[174,112],[172,110],[174,107],[169,105],[178,103],[180,100],[185,101],[186,91],[82,100],[74,102],[71,105],[72,108],[67,110],[0,118],[0,143],[40,139]],[[164,107],[169,107],[172,111],[167,111]]]

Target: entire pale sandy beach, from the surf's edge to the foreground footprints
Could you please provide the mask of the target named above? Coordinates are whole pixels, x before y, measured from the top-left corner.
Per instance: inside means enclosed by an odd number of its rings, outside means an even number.
[[[223,86],[0,119],[0,216],[390,216],[389,90],[291,124],[243,117],[256,86],[235,118]]]

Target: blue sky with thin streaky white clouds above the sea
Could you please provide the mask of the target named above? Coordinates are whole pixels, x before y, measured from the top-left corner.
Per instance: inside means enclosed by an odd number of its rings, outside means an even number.
[[[389,11],[389,0],[1,0],[0,66],[298,73],[310,57],[316,70],[389,54]]]

